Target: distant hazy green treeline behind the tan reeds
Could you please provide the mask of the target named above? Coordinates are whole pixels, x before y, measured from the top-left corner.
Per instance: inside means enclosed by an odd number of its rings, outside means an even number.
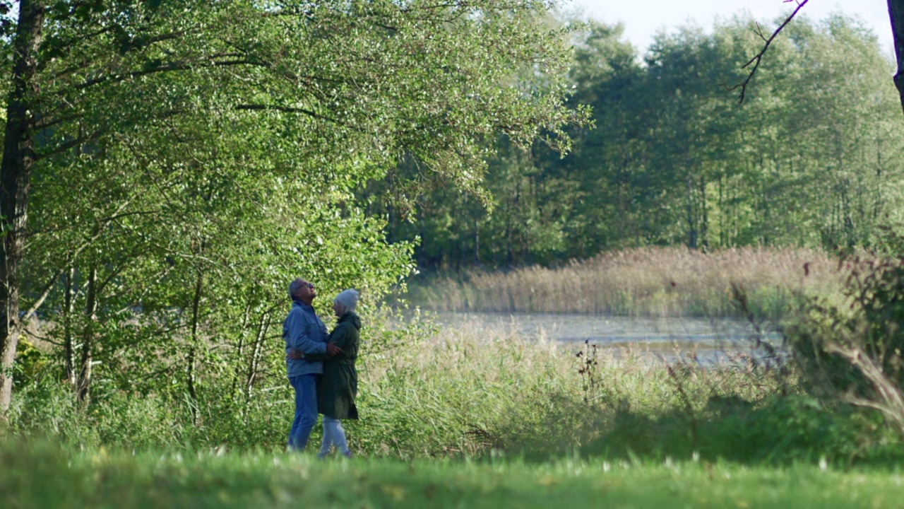
[[[492,214],[451,185],[410,206],[369,199],[369,211],[389,217],[391,241],[420,238],[421,268],[554,264],[645,245],[870,245],[901,209],[891,56],[851,18],[798,19],[739,104],[730,88],[762,43],[752,20],[735,18],[711,34],[660,34],[640,58],[621,26],[590,23],[575,43],[570,101],[592,107],[596,127],[572,133],[567,157],[500,139],[485,183]],[[400,164],[365,195],[422,172]]]

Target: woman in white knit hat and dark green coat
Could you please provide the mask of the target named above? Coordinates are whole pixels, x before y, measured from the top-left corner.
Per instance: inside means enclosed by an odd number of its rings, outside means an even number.
[[[317,380],[317,411],[324,416],[324,441],[317,457],[325,457],[335,446],[345,457],[352,452],[345,442],[342,419],[358,418],[354,398],[358,394],[358,372],[354,360],[358,357],[358,341],[361,319],[355,314],[358,292],[345,290],[333,300],[336,325],[330,332],[328,343],[335,343],[339,353],[324,361],[324,374]]]

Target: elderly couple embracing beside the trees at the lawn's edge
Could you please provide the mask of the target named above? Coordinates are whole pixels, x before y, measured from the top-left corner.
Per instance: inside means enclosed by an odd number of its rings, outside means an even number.
[[[358,418],[354,406],[358,392],[354,360],[361,331],[361,319],[354,313],[358,293],[345,290],[336,295],[336,324],[328,335],[311,307],[317,296],[314,284],[298,278],[289,283],[288,295],[292,309],[283,322],[283,340],[288,381],[295,389],[295,419],[288,432],[288,448],[305,449],[319,412],[324,415],[324,440],[317,457],[328,455],[333,446],[351,457],[341,419]]]

